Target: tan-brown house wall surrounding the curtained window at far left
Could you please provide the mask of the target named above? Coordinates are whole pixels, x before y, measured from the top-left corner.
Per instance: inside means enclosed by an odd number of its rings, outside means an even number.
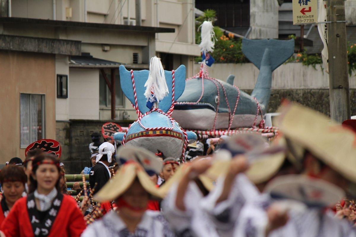
[[[20,93],[41,93],[46,98],[46,138],[56,139],[55,56],[0,50],[0,163],[25,158],[20,149]]]

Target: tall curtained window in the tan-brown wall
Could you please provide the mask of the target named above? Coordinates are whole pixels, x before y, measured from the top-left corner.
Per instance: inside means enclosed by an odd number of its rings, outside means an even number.
[[[45,138],[45,95],[20,94],[21,148]]]

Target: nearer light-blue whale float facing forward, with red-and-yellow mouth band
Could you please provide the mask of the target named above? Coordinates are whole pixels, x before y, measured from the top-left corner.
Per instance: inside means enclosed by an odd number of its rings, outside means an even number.
[[[120,84],[125,96],[135,105],[135,96],[133,91],[133,83],[131,79],[131,72],[121,65],[120,68]],[[145,83],[148,79],[148,70],[133,71],[133,77],[135,81],[135,88],[137,94],[137,106],[140,113],[145,114],[150,111],[147,108],[147,99],[144,96],[146,87]],[[167,113],[172,105],[172,72],[164,71],[169,93],[159,103],[158,111],[152,111],[145,115],[141,119],[141,124],[136,122],[132,123],[127,133],[115,133],[114,140],[122,142],[126,146],[140,146],[154,153],[162,152],[166,157],[180,158],[184,143],[186,141],[183,130],[180,125],[169,119]],[[185,88],[185,66],[180,65],[177,70],[174,71],[175,75],[175,90],[174,100],[176,101],[183,93]],[[144,129],[143,127],[146,129]],[[152,128],[160,128],[149,130]],[[169,129],[164,129],[169,128]],[[197,139],[197,135],[193,132],[187,132],[187,139],[189,143],[194,142]],[[187,145],[187,144],[185,144]]]

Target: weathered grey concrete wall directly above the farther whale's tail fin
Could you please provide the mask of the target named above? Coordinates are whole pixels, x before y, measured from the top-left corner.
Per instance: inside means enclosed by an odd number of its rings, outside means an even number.
[[[250,39],[278,38],[277,0],[250,0]]]

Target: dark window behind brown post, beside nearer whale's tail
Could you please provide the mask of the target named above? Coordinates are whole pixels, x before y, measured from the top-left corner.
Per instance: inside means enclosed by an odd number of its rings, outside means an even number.
[[[109,81],[111,82],[111,75],[106,74]],[[115,75],[115,106],[123,107],[124,106],[124,92],[121,90],[120,85],[120,75]],[[99,74],[99,104],[101,106],[111,106],[111,93],[108,85],[106,85],[105,79],[101,73]]]

